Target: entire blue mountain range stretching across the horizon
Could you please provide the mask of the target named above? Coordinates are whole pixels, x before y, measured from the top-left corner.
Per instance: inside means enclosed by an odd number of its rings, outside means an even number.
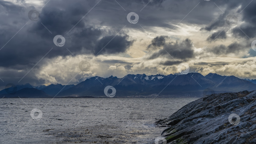
[[[256,82],[256,80],[255,80]],[[126,75],[123,78],[94,76],[77,85],[51,84],[32,86],[29,83],[15,88],[3,89],[3,97],[106,97],[104,88],[116,89],[115,97],[150,97],[159,94],[165,97],[201,97],[212,93],[252,91],[256,89],[254,80],[240,79],[235,76],[222,76],[209,73],[186,75]],[[108,90],[108,93],[112,93]],[[10,93],[11,92],[11,93]]]

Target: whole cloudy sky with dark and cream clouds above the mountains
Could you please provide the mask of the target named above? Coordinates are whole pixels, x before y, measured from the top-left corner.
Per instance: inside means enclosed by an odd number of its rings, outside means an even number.
[[[0,0],[0,87],[93,76],[256,79],[254,0]],[[186,67],[187,68],[187,67]]]

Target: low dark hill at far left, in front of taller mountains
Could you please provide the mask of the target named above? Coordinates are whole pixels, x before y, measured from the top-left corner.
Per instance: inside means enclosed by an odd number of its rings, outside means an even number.
[[[2,94],[1,97],[5,98],[48,98],[50,95],[36,88],[23,88],[16,91],[14,94]]]

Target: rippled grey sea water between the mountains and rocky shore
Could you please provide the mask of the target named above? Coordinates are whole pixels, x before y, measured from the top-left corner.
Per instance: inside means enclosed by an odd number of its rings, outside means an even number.
[[[1,99],[1,143],[154,143],[155,127],[197,98]],[[33,109],[34,120],[31,117]]]

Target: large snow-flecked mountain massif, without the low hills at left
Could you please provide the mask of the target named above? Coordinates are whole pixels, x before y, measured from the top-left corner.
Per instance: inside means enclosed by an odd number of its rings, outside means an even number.
[[[104,88],[113,86],[116,97],[136,95],[203,96],[203,93],[239,92],[255,90],[256,85],[235,76],[199,73],[187,75],[126,75],[123,78],[92,77],[61,93],[59,96],[105,96]]]

